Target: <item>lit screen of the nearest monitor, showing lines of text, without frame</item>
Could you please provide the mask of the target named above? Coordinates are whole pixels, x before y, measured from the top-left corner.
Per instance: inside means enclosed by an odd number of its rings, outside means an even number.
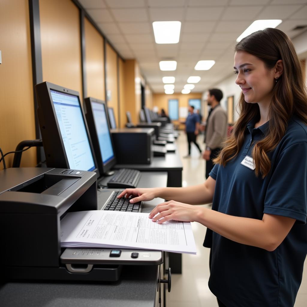
[[[79,97],[50,89],[70,169],[95,169]]]

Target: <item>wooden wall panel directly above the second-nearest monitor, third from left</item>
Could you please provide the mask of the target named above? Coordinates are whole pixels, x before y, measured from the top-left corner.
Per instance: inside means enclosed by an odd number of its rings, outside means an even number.
[[[84,32],[87,97],[105,100],[103,37],[87,18]]]

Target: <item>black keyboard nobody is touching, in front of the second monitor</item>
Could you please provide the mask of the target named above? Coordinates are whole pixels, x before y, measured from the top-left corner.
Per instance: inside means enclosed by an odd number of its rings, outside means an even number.
[[[119,169],[107,183],[109,188],[136,188],[141,172],[136,169]]]

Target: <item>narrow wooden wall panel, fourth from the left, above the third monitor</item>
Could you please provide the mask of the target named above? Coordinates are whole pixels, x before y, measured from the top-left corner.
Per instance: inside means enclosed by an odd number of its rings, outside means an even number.
[[[113,107],[117,126],[119,126],[118,114],[118,93],[117,93],[117,54],[113,48],[106,44],[106,63],[107,63],[107,92],[110,93],[108,97],[108,107]],[[110,99],[110,100],[109,100]]]

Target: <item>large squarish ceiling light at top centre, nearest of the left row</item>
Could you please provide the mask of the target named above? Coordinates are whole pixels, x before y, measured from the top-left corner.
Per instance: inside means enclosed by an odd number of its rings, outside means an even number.
[[[153,34],[157,44],[177,44],[180,37],[180,21],[154,21]]]

